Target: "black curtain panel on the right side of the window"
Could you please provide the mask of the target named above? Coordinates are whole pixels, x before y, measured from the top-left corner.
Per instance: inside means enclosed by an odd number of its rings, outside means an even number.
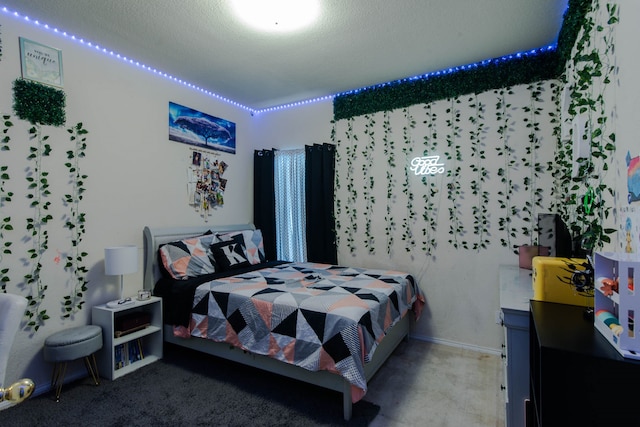
[[[335,146],[305,147],[305,197],[307,212],[307,259],[337,264],[333,211]]]

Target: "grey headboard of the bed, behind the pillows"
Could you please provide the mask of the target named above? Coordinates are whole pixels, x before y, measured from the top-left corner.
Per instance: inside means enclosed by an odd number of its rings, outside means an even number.
[[[142,232],[144,242],[144,289],[153,291],[161,273],[158,267],[158,247],[165,243],[187,237],[202,235],[208,231],[225,233],[229,231],[255,230],[253,224],[198,225],[193,227],[145,227]]]

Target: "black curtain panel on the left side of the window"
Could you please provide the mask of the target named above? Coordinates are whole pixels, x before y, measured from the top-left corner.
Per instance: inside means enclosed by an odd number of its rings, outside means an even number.
[[[253,223],[262,230],[264,254],[276,259],[276,198],[273,181],[274,151],[253,153]]]

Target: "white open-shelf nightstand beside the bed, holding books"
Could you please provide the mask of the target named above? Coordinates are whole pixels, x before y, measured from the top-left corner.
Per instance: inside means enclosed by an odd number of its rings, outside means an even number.
[[[149,316],[149,325],[120,335],[118,319],[135,313]],[[91,323],[102,327],[104,345],[96,354],[100,376],[114,380],[162,358],[162,299],[134,299],[133,304],[109,308],[106,304],[91,310]],[[120,335],[120,336],[116,336]]]

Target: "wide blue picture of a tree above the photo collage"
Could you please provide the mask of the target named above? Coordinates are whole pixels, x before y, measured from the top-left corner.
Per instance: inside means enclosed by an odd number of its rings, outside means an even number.
[[[169,139],[236,154],[236,124],[169,102]]]

